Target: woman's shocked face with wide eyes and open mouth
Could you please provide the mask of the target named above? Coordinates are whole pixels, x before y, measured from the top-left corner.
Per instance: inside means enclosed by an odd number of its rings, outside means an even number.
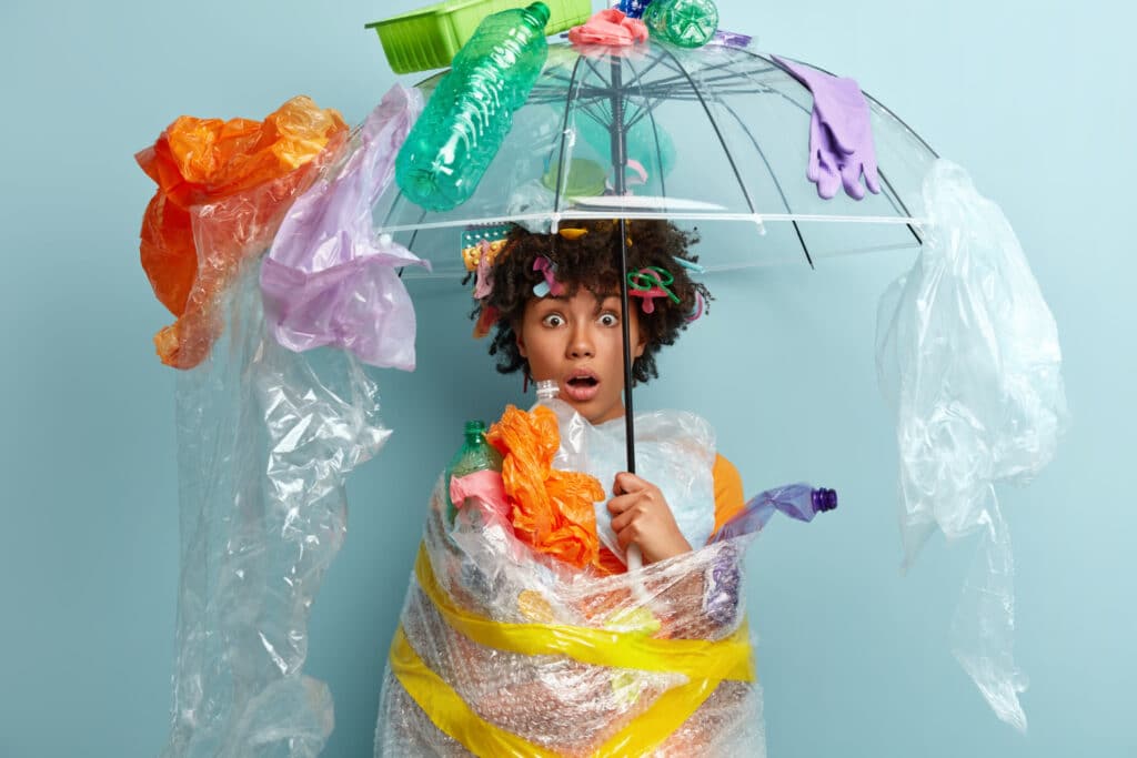
[[[623,310],[620,295],[584,288],[572,297],[533,298],[514,327],[517,349],[540,382],[555,380],[559,398],[592,424],[624,415]],[[632,357],[644,355],[639,318],[628,324]]]

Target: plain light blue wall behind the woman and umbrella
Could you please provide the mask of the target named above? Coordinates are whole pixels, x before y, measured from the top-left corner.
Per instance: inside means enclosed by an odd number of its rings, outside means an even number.
[[[0,756],[152,756],[166,735],[174,375],[150,342],[169,319],[138,264],[152,184],[133,152],[181,114],[262,118],[297,93],[359,122],[396,80],[363,24],[416,5],[0,10]],[[843,498],[813,525],[775,523],[752,555],[770,755],[1137,756],[1132,13],[774,5],[722,0],[721,25],[857,77],[1002,203],[1059,323],[1073,426],[1029,489],[1002,493],[1031,680],[1022,736],[949,653],[973,545],[937,539],[898,572],[872,340],[877,298],[911,256],[712,282],[712,316],[665,356],[641,407],[707,416],[748,493],[804,477]],[[376,374],[396,434],[351,481],[348,541],[312,623],[308,672],[337,702],[330,756],[371,755],[422,503],[460,422],[520,399],[466,338],[465,310],[425,293],[420,370]]]

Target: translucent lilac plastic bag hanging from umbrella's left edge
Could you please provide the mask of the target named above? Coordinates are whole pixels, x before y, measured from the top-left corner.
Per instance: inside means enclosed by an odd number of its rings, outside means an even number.
[[[415,313],[396,269],[429,264],[389,236],[376,239],[371,208],[422,108],[418,90],[391,88],[339,174],[289,209],[260,270],[265,318],[282,345],[333,345],[372,366],[414,369]]]

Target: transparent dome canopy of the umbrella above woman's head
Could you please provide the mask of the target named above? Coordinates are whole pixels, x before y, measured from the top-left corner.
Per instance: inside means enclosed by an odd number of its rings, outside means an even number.
[[[440,76],[420,86],[430,91]],[[823,200],[805,176],[812,95],[769,57],[724,45],[557,43],[470,200],[430,211],[392,185],[374,219],[432,260],[432,274],[408,276],[464,274],[454,248],[440,250],[426,230],[503,222],[694,224],[715,239],[703,256],[711,270],[915,248],[912,209],[936,155],[868,100],[882,191]]]

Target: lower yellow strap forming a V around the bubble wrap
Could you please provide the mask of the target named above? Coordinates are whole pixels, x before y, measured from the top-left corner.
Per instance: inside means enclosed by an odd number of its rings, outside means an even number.
[[[418,703],[434,726],[478,756],[509,758],[556,758],[557,753],[490,724],[442,678],[432,672],[410,647],[402,626],[391,642],[391,670],[402,689]],[[600,745],[597,758],[642,756],[678,730],[698,710],[719,682],[699,680],[664,692],[652,707]]]

